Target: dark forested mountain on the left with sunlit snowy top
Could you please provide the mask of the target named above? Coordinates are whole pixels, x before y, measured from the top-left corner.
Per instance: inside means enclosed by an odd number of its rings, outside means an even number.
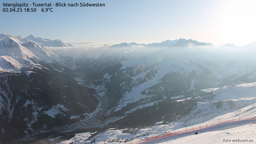
[[[0,34],[0,142],[72,124],[94,111],[95,92],[75,77],[37,42]]]

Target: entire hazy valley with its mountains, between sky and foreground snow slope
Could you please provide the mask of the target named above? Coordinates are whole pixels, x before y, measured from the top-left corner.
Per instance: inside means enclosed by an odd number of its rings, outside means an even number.
[[[87,132],[84,143],[121,143],[95,135],[108,128],[136,134],[157,122],[180,129],[252,107],[255,55],[256,42],[74,47],[0,34],[0,142],[64,143]]]

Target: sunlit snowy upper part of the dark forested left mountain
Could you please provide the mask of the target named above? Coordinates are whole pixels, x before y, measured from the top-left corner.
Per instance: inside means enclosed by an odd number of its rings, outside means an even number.
[[[44,49],[38,43],[30,42],[22,36],[8,34],[0,34],[0,56],[2,56],[1,71],[5,72],[39,66],[35,63],[40,61],[47,63],[60,61],[56,54]]]

